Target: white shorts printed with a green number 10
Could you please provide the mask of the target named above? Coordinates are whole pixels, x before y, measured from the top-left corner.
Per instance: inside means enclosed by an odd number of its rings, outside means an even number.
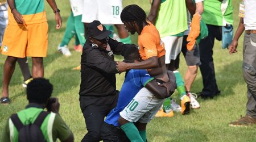
[[[148,123],[162,106],[164,99],[158,99],[143,87],[133,100],[120,112],[122,118],[129,122]]]

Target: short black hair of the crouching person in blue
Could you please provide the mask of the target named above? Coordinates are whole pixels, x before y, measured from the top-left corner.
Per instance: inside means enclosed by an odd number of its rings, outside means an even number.
[[[139,49],[134,44],[130,44],[125,48],[123,57],[125,58],[124,62],[127,62],[127,63],[134,62],[134,60],[139,61],[139,59],[141,59],[141,56],[139,56]]]

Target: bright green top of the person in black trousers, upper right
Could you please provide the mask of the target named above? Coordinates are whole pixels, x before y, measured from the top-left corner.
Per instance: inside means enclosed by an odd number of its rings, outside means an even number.
[[[206,24],[215,26],[225,26],[224,20],[227,23],[233,25],[233,5],[232,0],[228,1],[228,7],[224,14],[221,12],[221,2],[218,0],[205,0],[204,1],[204,13],[202,18]]]

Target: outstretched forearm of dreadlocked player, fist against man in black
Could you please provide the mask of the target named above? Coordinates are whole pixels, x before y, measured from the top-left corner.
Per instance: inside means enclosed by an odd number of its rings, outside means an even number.
[[[158,57],[153,56],[147,60],[134,63],[117,62],[117,69],[120,73],[128,69],[152,69],[158,67]]]

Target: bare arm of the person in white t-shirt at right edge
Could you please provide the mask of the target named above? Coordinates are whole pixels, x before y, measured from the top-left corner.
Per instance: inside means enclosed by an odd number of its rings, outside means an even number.
[[[245,31],[245,26],[243,25],[243,18],[240,18],[240,23],[237,28],[236,34],[234,35],[234,39],[233,39],[232,43],[230,43],[230,45],[229,45],[230,55],[237,52],[238,39],[243,34],[243,31]]]

